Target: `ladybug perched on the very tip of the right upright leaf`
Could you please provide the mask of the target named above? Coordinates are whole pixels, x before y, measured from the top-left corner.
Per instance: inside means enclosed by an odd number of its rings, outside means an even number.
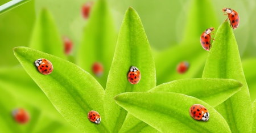
[[[228,15],[230,25],[232,25],[233,29],[236,29],[240,22],[238,13],[235,10],[232,10],[231,8],[222,8],[222,11],[227,13],[224,15]],[[228,20],[228,19],[226,19],[226,20]]]

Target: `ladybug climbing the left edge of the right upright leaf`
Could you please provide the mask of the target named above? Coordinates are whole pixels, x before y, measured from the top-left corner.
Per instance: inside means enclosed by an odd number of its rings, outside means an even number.
[[[201,42],[201,45],[203,46],[203,48],[207,51],[209,51],[210,49],[210,32],[213,32],[214,31],[214,28],[208,28],[206,29],[202,35],[200,36],[200,42]],[[213,38],[212,38],[213,39]],[[214,40],[214,39],[213,39]]]

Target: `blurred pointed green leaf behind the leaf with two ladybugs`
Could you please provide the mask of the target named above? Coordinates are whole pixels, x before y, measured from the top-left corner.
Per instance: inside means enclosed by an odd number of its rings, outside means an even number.
[[[46,8],[42,9],[35,22],[30,48],[65,58],[64,45],[55,22]]]

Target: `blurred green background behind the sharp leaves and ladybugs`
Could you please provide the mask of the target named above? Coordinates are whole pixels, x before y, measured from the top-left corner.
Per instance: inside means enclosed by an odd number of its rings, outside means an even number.
[[[9,1],[1,0],[0,5],[6,2]],[[254,29],[256,18],[254,12],[256,12],[256,2],[254,0],[106,0],[107,9],[96,11],[98,8],[95,8],[93,11],[95,13],[91,14],[92,18],[84,19],[81,15],[81,7],[86,2],[89,1],[32,0],[0,15],[0,94],[2,95],[0,96],[0,107],[3,108],[3,111],[0,111],[0,125],[4,125],[3,128],[0,128],[0,132],[18,131],[10,128],[19,126],[10,115],[11,110],[17,107],[26,108],[31,115],[31,121],[35,121],[34,124],[30,122],[19,127],[20,131],[18,132],[78,132],[65,121],[41,89],[23,70],[13,54],[13,48],[30,46],[53,55],[59,53],[57,56],[76,63],[92,75],[92,71],[89,70],[92,64],[86,63],[88,61],[86,58],[93,58],[97,61],[96,54],[109,53],[108,58],[102,61],[106,66],[105,75],[102,78],[94,75],[105,88],[108,70],[112,62],[111,57],[113,57],[115,48],[115,44],[112,42],[117,41],[123,16],[130,6],[141,17],[150,42],[156,64],[157,84],[176,79],[201,78],[208,54],[201,48],[199,41],[201,33],[209,27],[217,29],[218,25],[224,22],[227,16],[223,15],[222,8],[230,7],[236,10],[240,15],[240,25],[234,31],[234,35],[240,50],[251,100],[255,100],[256,40],[254,37],[256,33]],[[96,2],[94,1],[94,3]],[[47,14],[49,14],[45,16],[46,19],[49,16],[49,22],[46,20],[49,25],[43,25],[44,19],[39,19],[43,9],[47,10]],[[109,13],[101,14],[104,11],[109,11]],[[108,17],[102,18],[102,16]],[[101,23],[105,25],[97,28],[98,24]],[[42,36],[39,36],[38,32],[41,31]],[[93,31],[97,32],[92,33]],[[105,42],[87,42],[90,40],[88,39],[90,33],[97,40],[105,37],[102,39]],[[102,35],[97,36],[99,33]],[[113,36],[110,36],[109,33]],[[73,42],[74,49],[71,55],[64,55],[63,46],[57,49],[55,44],[51,44],[51,42],[56,42],[56,44],[63,45],[61,41],[63,36],[70,38]],[[106,39],[109,37],[110,40]],[[214,38],[214,35],[212,37]],[[53,49],[54,52],[40,48],[44,43],[47,43],[43,42],[44,40],[49,40],[47,46],[52,45],[50,49]],[[88,43],[95,45],[95,47],[88,47]],[[108,47],[109,49],[106,49]],[[96,51],[87,57],[82,56],[83,51],[88,53],[90,50]],[[81,63],[83,61],[85,63]],[[178,74],[176,66],[182,61],[188,61],[190,67],[185,74]],[[40,124],[42,121],[44,121],[44,125]]]

